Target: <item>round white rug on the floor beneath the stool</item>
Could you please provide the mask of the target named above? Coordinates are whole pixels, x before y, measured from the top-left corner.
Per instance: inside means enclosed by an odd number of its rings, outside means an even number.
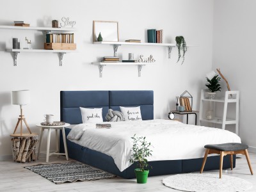
[[[169,188],[180,191],[246,191],[252,188],[252,184],[244,179],[209,173],[188,173],[166,177],[163,184]]]

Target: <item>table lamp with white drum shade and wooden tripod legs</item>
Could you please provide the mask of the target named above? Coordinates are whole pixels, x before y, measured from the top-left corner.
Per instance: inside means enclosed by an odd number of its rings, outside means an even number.
[[[26,122],[26,118],[22,114],[22,106],[29,104],[30,102],[30,92],[29,90],[19,90],[19,91],[13,91],[12,92],[12,104],[13,105],[19,105],[20,106],[20,117],[18,118],[17,125],[15,127],[15,130],[13,134],[17,131],[17,128],[20,124],[20,136],[22,136],[22,121],[24,121],[26,127],[28,128],[28,131],[30,134],[32,133],[29,129],[29,126]]]

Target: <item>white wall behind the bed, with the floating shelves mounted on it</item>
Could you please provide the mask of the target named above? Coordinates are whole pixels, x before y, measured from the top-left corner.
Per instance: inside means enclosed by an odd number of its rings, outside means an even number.
[[[11,104],[12,90],[31,90],[31,104],[24,107],[28,124],[39,133],[35,124],[42,122],[45,113],[60,119],[61,90],[154,90],[154,117],[167,118],[175,108],[175,96],[188,90],[194,98],[193,109],[199,108],[200,90],[204,74],[212,67],[213,1],[204,0],[143,0],[143,1],[1,1],[5,11],[0,12],[0,25],[12,25],[13,20],[24,20],[31,26],[51,26],[51,20],[70,17],[76,20],[77,53],[65,54],[63,67],[58,65],[58,55],[53,53],[21,53],[17,67],[6,47],[12,47],[12,38],[25,36],[31,39],[34,49],[42,49],[44,35],[40,31],[0,29],[0,157],[10,156],[10,137],[19,106]],[[147,40],[147,29],[164,30],[164,42],[174,43],[175,36],[183,35],[189,47],[183,65],[176,63],[177,49],[168,60],[164,47],[121,46],[118,56],[124,60],[129,52],[156,59],[142,68],[138,77],[136,66],[105,67],[99,78],[99,68],[91,64],[102,56],[112,56],[110,45],[92,44],[93,20],[117,20],[120,41]],[[147,41],[146,41],[147,42]],[[194,118],[191,117],[191,123]],[[53,141],[52,137],[52,141]],[[45,143],[42,147],[45,147]],[[54,143],[52,142],[52,147]],[[52,148],[53,149],[53,148]],[[43,148],[42,150],[45,150]],[[0,159],[1,159],[0,158]]]

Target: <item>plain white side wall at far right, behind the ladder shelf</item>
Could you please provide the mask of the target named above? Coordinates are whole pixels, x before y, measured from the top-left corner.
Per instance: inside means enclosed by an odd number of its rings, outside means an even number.
[[[256,1],[214,1],[212,68],[221,68],[231,90],[240,91],[239,136],[256,152],[255,6]]]

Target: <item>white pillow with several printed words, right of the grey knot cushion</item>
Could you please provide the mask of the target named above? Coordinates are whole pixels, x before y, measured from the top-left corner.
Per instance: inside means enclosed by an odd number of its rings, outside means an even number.
[[[125,108],[125,107],[121,107],[121,112],[124,115],[124,120],[125,121],[132,121],[132,122],[136,122],[136,121],[141,121],[141,112],[140,112],[140,106],[138,107],[134,107],[134,108]]]

